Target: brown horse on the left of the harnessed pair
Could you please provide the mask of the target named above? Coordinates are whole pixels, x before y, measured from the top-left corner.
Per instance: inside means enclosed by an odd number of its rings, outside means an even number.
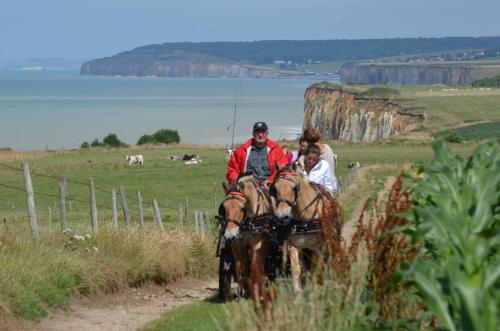
[[[224,241],[230,245],[235,258],[236,280],[241,296],[246,292],[251,271],[264,275],[269,245],[266,233],[260,228],[269,221],[272,209],[263,188],[252,176],[238,180],[237,192],[231,192],[227,186],[224,188],[227,194],[221,210],[227,223]],[[261,279],[258,281],[263,282]]]

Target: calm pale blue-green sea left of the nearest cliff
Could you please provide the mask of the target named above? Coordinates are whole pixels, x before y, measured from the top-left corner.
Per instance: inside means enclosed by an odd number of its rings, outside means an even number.
[[[72,149],[109,133],[135,144],[162,128],[178,130],[184,143],[230,146],[248,139],[257,121],[271,139],[293,139],[304,92],[317,81],[0,71],[0,148]]]

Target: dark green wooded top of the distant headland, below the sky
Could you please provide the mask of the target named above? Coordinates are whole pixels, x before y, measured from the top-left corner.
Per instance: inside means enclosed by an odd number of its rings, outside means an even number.
[[[500,48],[500,37],[175,42],[137,47],[99,61],[217,61],[249,64],[358,61],[436,51]]]

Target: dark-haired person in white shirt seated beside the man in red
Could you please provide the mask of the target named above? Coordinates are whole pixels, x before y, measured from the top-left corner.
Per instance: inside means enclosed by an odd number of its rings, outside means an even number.
[[[331,193],[337,192],[337,180],[327,161],[320,159],[321,149],[309,145],[304,152],[304,170],[309,182],[326,187]]]

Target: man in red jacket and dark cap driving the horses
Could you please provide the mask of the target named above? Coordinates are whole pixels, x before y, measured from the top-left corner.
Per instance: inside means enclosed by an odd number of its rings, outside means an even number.
[[[264,122],[257,122],[253,126],[253,138],[238,147],[227,164],[226,178],[229,184],[236,183],[238,176],[251,172],[259,182],[272,182],[276,170],[276,162],[280,168],[288,160],[281,147],[268,139],[269,130]]]

